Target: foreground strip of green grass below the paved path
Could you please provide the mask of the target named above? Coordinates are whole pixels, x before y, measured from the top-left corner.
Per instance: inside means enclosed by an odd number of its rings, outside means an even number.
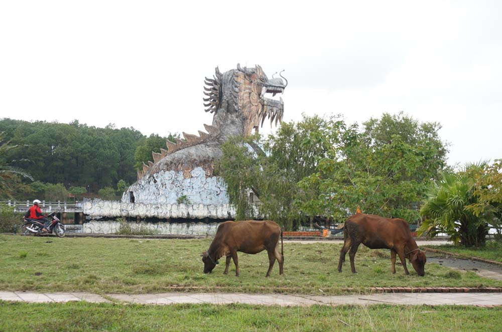
[[[5,331],[490,331],[502,308],[93,304],[0,301]]]

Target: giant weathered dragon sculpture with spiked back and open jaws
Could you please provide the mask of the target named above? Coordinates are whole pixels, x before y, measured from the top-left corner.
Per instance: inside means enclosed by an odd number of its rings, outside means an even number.
[[[250,135],[267,119],[271,125],[282,120],[282,98],[265,97],[284,92],[288,81],[281,73],[280,78],[268,79],[258,65],[237,64],[237,69],[224,73],[216,67],[213,77],[204,81],[205,111],[213,114],[212,124],[204,125],[207,132],[183,132],[184,139],[167,141],[167,149],[152,152],[154,161],[143,164],[138,181],[123,193],[121,202],[127,206],[120,207],[120,215],[230,217],[226,185],[213,176],[214,161],[222,156],[221,145],[229,137]]]

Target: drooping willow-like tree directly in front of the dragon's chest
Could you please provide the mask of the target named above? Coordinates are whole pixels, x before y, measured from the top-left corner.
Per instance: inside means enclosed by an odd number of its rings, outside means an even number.
[[[298,190],[297,183],[310,176],[319,158],[339,141],[338,117],[304,118],[282,123],[275,134],[235,137],[222,146],[216,173],[227,184],[237,220],[267,218],[294,229],[308,216],[297,204],[314,194]],[[257,200],[253,202],[253,197]]]

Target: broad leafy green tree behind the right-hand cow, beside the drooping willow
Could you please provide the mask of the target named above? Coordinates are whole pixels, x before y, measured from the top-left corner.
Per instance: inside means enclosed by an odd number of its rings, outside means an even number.
[[[315,173],[299,182],[302,190],[318,192],[303,200],[301,208],[339,221],[357,207],[364,213],[417,220],[427,184],[446,166],[439,124],[384,114],[363,127],[359,131],[343,124],[334,129],[339,144],[319,159]]]

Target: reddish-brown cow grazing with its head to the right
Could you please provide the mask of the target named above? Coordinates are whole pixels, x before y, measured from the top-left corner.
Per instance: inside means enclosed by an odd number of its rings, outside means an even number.
[[[340,250],[338,272],[342,271],[342,262],[349,251],[350,267],[355,272],[354,256],[359,244],[364,244],[370,249],[391,249],[392,273],[396,273],[396,253],[406,274],[406,259],[408,258],[418,275],[424,276],[424,266],[427,258],[417,242],[413,239],[408,222],[403,219],[384,218],[372,214],[354,214],[345,221],[343,231],[343,246]]]

